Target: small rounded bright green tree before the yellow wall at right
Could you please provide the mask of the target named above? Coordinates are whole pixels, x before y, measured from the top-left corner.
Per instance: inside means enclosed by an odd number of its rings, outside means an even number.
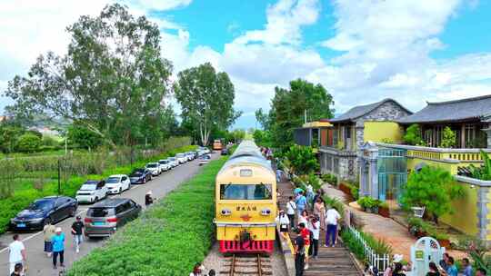
[[[419,172],[409,174],[403,187],[401,203],[406,209],[426,207],[426,212],[438,222],[438,217],[453,212],[451,201],[463,196],[463,189],[446,170],[425,166]]]

